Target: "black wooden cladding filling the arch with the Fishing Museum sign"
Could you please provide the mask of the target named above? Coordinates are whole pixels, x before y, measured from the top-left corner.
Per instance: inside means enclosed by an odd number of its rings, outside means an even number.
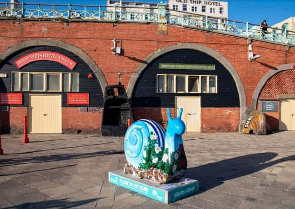
[[[21,69],[17,69],[14,60],[17,58],[35,51],[53,51],[63,54],[75,62],[77,65],[73,70],[69,70],[67,67],[61,65],[60,63],[42,60],[29,63]],[[0,65],[0,72],[8,74],[8,78],[0,79],[0,91],[3,93],[11,92],[11,72],[12,71],[24,71],[24,72],[78,72],[79,73],[79,93],[89,93],[90,94],[90,104],[89,107],[102,107],[103,106],[103,92],[101,85],[96,78],[90,67],[77,55],[67,51],[65,49],[55,47],[55,46],[33,46],[29,48],[22,49],[14,54],[7,57]],[[87,79],[89,73],[94,76],[93,79]],[[22,92],[23,93],[23,105],[28,106],[28,94],[34,94],[34,92]],[[46,94],[61,94],[62,95],[62,106],[67,106],[67,93],[66,92],[46,92]],[[75,106],[75,105],[71,105]],[[81,105],[79,105],[81,106]]]

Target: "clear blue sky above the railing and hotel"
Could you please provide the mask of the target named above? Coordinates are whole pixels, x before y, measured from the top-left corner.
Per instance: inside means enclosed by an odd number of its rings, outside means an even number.
[[[2,2],[6,2],[2,0]],[[22,0],[20,0],[22,1]],[[159,2],[160,0],[128,0]],[[163,0],[168,1],[168,0]],[[106,5],[106,0],[25,0],[25,3]],[[295,0],[227,0],[228,18],[231,20],[260,24],[266,19],[268,25],[295,16]]]

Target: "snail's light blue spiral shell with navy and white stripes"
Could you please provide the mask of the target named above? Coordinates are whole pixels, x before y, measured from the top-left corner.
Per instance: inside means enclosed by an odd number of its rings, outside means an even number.
[[[127,130],[124,138],[125,156],[131,165],[139,168],[143,163],[144,147],[149,145],[148,139],[157,138],[157,146],[165,146],[165,130],[153,120],[138,120]]]

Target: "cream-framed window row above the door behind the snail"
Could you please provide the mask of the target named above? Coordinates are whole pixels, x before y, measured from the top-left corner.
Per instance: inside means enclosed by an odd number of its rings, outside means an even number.
[[[158,74],[157,93],[217,93],[217,76]]]

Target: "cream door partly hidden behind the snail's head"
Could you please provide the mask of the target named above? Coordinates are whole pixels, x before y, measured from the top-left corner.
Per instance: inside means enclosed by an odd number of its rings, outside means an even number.
[[[181,119],[185,123],[186,132],[201,131],[201,99],[200,96],[177,96],[176,113],[183,108]]]

